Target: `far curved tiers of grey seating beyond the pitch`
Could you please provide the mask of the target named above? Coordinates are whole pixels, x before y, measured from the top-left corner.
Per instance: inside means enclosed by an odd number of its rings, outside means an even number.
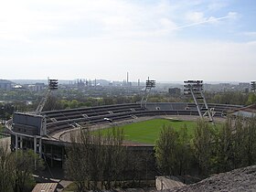
[[[203,104],[200,104],[202,111]],[[208,104],[216,116],[226,115],[227,112],[240,108],[239,105]],[[80,127],[80,124],[108,123],[104,118],[113,122],[154,115],[198,115],[195,103],[186,102],[149,102],[146,108],[139,103],[105,105],[91,108],[43,112],[47,119],[47,133]]]

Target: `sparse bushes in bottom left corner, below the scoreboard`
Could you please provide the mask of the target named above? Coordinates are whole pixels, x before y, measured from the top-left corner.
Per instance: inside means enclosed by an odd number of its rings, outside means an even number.
[[[7,144],[0,145],[0,191],[26,192],[36,185],[32,176],[35,159],[37,169],[42,160],[32,150],[10,153]]]

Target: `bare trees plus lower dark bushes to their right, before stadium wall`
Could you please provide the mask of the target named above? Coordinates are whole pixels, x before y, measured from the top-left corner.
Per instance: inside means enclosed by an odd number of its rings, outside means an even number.
[[[80,130],[79,137],[72,136],[65,172],[78,191],[125,187],[127,180],[133,187],[142,185],[154,166],[153,156],[128,150],[123,146],[123,137],[118,127],[104,136],[101,132],[91,134],[89,129]]]

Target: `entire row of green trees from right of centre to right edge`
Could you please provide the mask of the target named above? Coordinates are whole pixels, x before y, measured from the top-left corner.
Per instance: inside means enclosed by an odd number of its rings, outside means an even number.
[[[177,132],[164,127],[155,144],[155,157],[164,175],[198,176],[226,172],[256,164],[256,118],[227,119],[218,129],[198,121],[193,138],[187,143],[187,129]]]

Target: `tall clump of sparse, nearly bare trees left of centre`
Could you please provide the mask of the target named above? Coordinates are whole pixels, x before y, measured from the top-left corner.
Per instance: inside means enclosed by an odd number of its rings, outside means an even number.
[[[113,127],[107,134],[93,132],[89,128],[81,129],[78,137],[71,136],[68,158],[65,164],[67,176],[74,180],[79,191],[110,189],[112,183],[123,174],[123,130]],[[80,167],[80,169],[77,169]]]

